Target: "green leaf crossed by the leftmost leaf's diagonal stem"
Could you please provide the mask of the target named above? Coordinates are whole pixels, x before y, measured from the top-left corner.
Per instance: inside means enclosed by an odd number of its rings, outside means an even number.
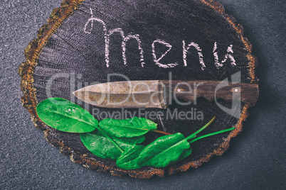
[[[83,145],[97,157],[117,160],[122,154],[114,143],[98,130],[92,133],[81,133],[80,139],[83,142]],[[144,136],[139,138],[116,138],[112,136],[112,140],[114,140],[122,150],[127,150],[134,145],[142,143],[145,138]]]

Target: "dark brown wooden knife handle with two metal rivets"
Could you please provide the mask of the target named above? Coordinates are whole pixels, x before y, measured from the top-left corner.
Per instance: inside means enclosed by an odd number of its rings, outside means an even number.
[[[234,83],[227,81],[160,81],[166,90],[166,102],[171,99],[193,102],[198,97],[214,101],[238,100],[250,106],[258,99],[258,84]]]

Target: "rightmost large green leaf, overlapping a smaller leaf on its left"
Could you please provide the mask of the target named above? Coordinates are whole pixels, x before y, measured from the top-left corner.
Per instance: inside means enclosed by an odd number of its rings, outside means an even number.
[[[181,157],[190,144],[181,133],[166,135],[147,145],[138,157],[140,166],[166,167]]]

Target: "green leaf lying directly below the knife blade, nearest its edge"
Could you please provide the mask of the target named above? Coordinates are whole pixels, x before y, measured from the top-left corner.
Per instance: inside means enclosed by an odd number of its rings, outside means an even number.
[[[157,124],[153,121],[137,117],[125,120],[107,118],[100,121],[99,125],[106,133],[118,138],[139,137],[148,133],[149,130],[157,129]]]

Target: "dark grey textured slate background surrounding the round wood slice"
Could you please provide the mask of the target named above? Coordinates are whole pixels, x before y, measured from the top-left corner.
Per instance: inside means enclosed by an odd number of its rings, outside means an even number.
[[[61,0],[0,2],[0,189],[285,189],[284,0],[220,0],[245,28],[260,67],[260,99],[221,157],[164,178],[97,173],[48,145],[21,106],[18,65]]]

